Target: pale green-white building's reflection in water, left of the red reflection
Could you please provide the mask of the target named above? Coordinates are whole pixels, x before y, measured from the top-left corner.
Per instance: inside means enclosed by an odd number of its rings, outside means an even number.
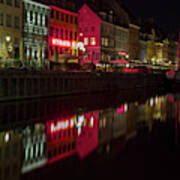
[[[27,173],[47,162],[46,130],[43,124],[27,126],[22,132],[22,173]]]

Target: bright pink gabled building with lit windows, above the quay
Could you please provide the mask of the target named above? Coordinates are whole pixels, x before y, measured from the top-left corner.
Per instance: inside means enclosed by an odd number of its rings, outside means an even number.
[[[101,54],[101,18],[86,4],[79,10],[79,42],[84,44],[82,63],[98,63]],[[80,54],[81,55],[81,54]]]

